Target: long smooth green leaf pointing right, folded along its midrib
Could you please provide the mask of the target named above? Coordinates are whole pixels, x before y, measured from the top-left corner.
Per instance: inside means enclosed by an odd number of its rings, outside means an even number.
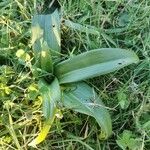
[[[76,82],[119,70],[138,60],[132,51],[119,48],[96,49],[57,64],[55,74],[60,83]]]

